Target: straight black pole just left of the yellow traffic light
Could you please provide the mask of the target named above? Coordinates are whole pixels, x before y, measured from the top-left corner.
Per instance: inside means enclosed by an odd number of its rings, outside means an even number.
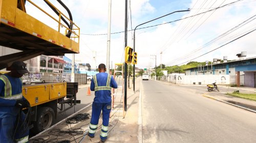
[[[125,18],[124,18],[124,47],[127,46],[127,7],[128,0],[125,0]],[[127,63],[124,62],[124,111],[127,110]]]

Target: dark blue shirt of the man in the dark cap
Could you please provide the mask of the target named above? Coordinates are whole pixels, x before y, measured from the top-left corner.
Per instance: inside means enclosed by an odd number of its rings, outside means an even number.
[[[4,74],[10,81],[12,87],[12,95],[22,93],[22,81],[19,78],[11,77]],[[0,79],[0,96],[5,97],[5,83]],[[25,98],[23,97],[23,100]],[[16,100],[8,100],[0,98],[0,118],[17,116],[19,108],[15,107]]]

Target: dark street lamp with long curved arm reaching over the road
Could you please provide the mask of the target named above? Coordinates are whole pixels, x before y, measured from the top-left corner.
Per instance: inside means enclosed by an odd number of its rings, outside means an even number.
[[[155,19],[152,19],[150,21],[147,21],[147,22],[144,22],[138,26],[135,27],[134,29],[134,33],[133,33],[133,51],[135,52],[135,31],[136,31],[136,28],[139,27],[139,26],[142,26],[144,25],[145,23],[148,23],[148,22],[151,22],[151,21],[154,21],[154,20],[157,20],[159,18],[162,18],[164,16],[167,16],[167,15],[170,15],[170,14],[173,14],[173,13],[176,13],[176,12],[184,12],[184,11],[190,11],[189,9],[188,10],[179,10],[179,11],[175,11],[175,12],[172,12],[172,13],[169,13],[169,14],[165,14],[161,17],[158,17],[158,18],[155,18]],[[135,64],[133,65],[133,75],[135,75]],[[135,92],[135,76],[133,76],[133,91]]]

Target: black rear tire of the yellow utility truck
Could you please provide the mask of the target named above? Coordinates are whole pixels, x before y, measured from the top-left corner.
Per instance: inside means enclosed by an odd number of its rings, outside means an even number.
[[[36,122],[33,132],[39,133],[51,127],[54,119],[54,111],[51,107],[41,107],[37,110]]]

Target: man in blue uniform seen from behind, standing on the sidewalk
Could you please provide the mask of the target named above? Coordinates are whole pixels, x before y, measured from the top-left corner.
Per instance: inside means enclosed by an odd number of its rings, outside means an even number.
[[[94,137],[98,128],[99,116],[102,110],[102,127],[100,139],[104,142],[108,138],[109,118],[111,111],[111,89],[117,88],[113,76],[105,73],[105,64],[98,66],[99,73],[93,76],[90,89],[95,91],[95,98],[92,105],[92,117],[90,122],[89,136]]]

